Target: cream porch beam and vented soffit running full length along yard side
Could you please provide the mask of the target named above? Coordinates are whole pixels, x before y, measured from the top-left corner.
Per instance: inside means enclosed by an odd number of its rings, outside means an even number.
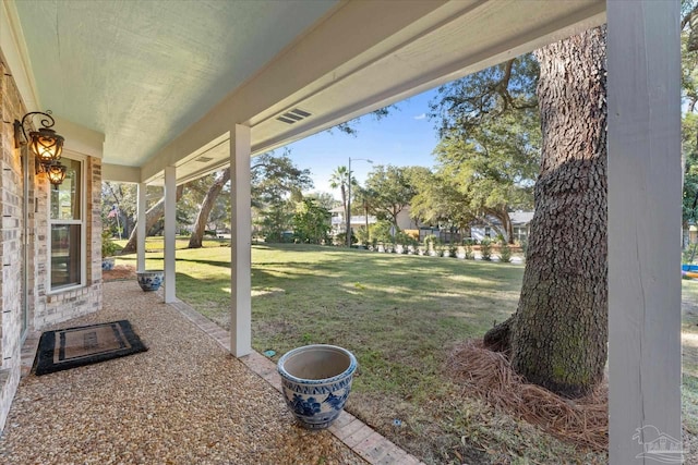
[[[410,10],[425,4],[431,10],[409,17]],[[208,147],[207,167],[201,164],[202,150],[195,148],[212,137],[227,140],[219,122],[250,124],[253,152],[261,154],[605,22],[601,0],[350,2],[342,7],[182,134],[160,154],[161,159],[145,167],[144,178],[156,181],[167,164],[178,166],[182,181],[227,166],[227,143]],[[376,17],[384,20],[369,21]],[[398,21],[404,22],[401,27],[394,24]],[[361,50],[348,50],[356,37],[376,40]],[[336,57],[344,61],[320,72],[323,63]],[[309,66],[304,66],[306,60],[312,60]],[[293,66],[298,73],[291,73]],[[314,78],[300,85],[298,74],[310,66],[316,72]],[[290,78],[299,85],[293,87]],[[264,96],[260,96],[262,88],[267,89]],[[296,122],[289,124],[289,119]],[[210,133],[204,136],[206,132]],[[193,155],[177,155],[179,149]]]

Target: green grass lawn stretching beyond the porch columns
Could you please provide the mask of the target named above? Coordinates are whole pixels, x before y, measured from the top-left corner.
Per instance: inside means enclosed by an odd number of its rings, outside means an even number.
[[[229,329],[224,245],[177,250],[177,294]],[[161,267],[161,240],[146,249],[147,267]],[[118,262],[134,265],[135,256]],[[443,368],[455,344],[481,338],[516,309],[522,266],[275,244],[253,246],[252,272],[254,348],[276,351],[275,360],[310,343],[352,351],[359,370],[347,409],[424,462],[605,463],[605,454],[576,450],[469,396]],[[698,302],[698,282],[684,287]],[[694,331],[698,306],[690,316],[685,329]],[[684,377],[690,432],[698,429],[694,375]]]

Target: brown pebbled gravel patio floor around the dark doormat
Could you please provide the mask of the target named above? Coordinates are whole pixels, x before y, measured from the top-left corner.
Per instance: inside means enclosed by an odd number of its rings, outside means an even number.
[[[104,309],[59,327],[129,319],[145,353],[20,383],[3,464],[365,464],[296,425],[281,395],[156,293],[104,286]]]

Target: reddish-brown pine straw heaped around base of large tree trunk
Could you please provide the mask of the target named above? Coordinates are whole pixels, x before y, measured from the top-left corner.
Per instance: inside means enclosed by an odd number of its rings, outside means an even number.
[[[594,451],[609,448],[609,402],[605,382],[589,395],[569,400],[530,384],[514,372],[500,352],[469,341],[450,354],[446,369],[464,392],[474,392],[508,414],[550,435]]]

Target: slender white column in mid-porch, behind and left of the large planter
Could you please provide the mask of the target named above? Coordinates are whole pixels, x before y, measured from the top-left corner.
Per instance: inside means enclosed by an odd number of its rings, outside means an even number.
[[[250,183],[250,127],[236,124],[230,133],[230,352],[242,357],[252,352],[252,204]]]

